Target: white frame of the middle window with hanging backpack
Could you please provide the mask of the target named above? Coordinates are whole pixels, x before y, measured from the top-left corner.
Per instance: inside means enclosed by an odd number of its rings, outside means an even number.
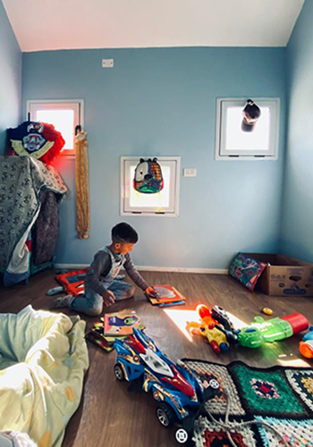
[[[137,165],[140,158],[145,160],[148,158],[155,158],[155,156],[121,156],[121,215],[139,215],[139,216],[163,216],[163,217],[177,217],[179,213],[179,192],[180,192],[180,173],[181,173],[181,157],[180,156],[156,156],[157,162],[161,165],[167,164],[172,168],[173,176],[171,176],[171,196],[170,196],[170,210],[157,211],[155,207],[131,207],[130,204],[130,190],[129,186],[132,182],[129,176],[130,164]],[[168,163],[171,162],[171,163]],[[172,204],[171,204],[172,200]]]

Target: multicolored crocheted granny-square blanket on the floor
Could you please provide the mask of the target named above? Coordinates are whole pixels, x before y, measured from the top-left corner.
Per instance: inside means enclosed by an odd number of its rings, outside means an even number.
[[[279,447],[283,441],[288,447],[313,447],[312,368],[184,361],[199,375],[216,375],[223,391],[207,401],[207,417],[195,423],[196,447]]]

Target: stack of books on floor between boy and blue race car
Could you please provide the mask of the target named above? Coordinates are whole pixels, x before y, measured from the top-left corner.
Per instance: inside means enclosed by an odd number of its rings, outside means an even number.
[[[131,335],[134,327],[141,330],[146,327],[141,323],[140,317],[134,310],[106,314],[100,320],[94,324],[91,332],[86,335],[86,339],[107,352],[114,350],[116,339],[123,340],[123,338]]]

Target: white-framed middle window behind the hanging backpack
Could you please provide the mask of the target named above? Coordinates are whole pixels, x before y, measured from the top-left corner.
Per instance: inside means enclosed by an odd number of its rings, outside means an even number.
[[[121,157],[121,215],[177,216],[181,158],[157,156],[164,178],[164,188],[154,194],[140,193],[133,188],[135,168],[139,162],[140,156]]]

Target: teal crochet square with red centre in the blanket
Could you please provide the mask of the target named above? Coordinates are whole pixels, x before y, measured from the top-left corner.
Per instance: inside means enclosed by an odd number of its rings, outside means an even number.
[[[231,367],[241,401],[250,414],[273,417],[301,417],[308,412],[292,392],[282,369]]]

